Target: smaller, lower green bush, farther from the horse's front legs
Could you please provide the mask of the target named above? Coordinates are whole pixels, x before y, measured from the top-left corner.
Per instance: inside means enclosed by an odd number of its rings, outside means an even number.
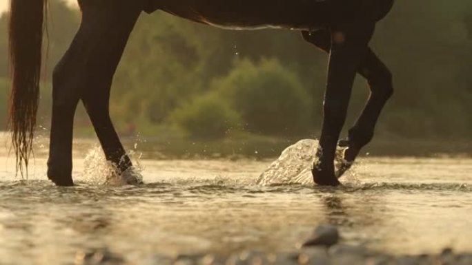
[[[237,127],[239,116],[215,93],[199,96],[170,114],[170,123],[184,129],[191,138],[224,138]]]

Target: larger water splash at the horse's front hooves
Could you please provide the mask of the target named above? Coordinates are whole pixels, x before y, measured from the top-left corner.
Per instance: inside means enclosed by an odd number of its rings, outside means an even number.
[[[313,184],[311,168],[316,160],[317,148],[318,140],[313,139],[299,140],[295,145],[287,147],[282,151],[282,155],[259,176],[257,184]],[[343,162],[343,151],[344,149],[338,148],[336,152],[337,170]]]

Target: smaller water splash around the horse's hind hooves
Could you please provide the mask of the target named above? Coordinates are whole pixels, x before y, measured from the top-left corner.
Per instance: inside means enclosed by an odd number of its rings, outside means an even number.
[[[135,145],[137,149],[137,145]],[[141,172],[144,168],[139,163],[141,153],[128,151],[127,156],[133,160],[133,167],[119,173],[117,165],[106,160],[101,147],[90,149],[83,161],[83,178],[86,182],[107,186],[137,185],[143,182]]]

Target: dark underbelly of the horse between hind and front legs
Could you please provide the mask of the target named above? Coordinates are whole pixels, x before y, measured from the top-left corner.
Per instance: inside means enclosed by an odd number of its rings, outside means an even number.
[[[232,30],[315,30],[326,25],[333,12],[329,0],[159,0],[157,8]]]

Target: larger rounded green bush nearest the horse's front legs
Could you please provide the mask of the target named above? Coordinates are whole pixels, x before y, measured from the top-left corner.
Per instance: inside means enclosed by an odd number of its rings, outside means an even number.
[[[277,60],[259,65],[238,61],[228,76],[214,85],[242,116],[250,132],[288,135],[310,128],[311,97],[298,76]]]

